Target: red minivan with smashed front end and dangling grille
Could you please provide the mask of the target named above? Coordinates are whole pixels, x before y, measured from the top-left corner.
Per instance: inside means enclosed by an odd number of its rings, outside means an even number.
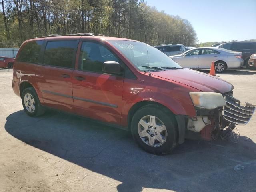
[[[241,106],[220,78],[182,68],[143,42],[98,34],[25,41],[12,87],[29,116],[53,108],[101,121],[130,130],[154,154],[184,138],[227,138],[255,110]]]

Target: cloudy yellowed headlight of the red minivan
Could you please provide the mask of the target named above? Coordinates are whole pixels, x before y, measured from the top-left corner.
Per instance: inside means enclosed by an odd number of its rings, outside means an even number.
[[[194,106],[204,109],[215,109],[226,105],[225,99],[220,93],[190,92],[190,98]]]

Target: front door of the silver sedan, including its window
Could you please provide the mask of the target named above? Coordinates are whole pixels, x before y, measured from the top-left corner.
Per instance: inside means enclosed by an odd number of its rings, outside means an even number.
[[[198,69],[200,49],[193,49],[179,58],[179,64],[184,68]]]

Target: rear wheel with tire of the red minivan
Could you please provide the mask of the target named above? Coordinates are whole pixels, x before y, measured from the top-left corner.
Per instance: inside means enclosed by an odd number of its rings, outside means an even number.
[[[26,112],[31,117],[37,117],[45,112],[45,108],[40,104],[36,90],[32,87],[24,89],[22,92],[22,106]]]

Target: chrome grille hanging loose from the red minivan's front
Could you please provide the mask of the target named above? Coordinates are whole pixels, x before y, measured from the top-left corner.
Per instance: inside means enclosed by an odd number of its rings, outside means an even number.
[[[255,106],[248,103],[246,103],[246,106],[241,106],[240,101],[230,96],[230,94],[224,94],[224,97],[226,106],[224,106],[223,118],[236,125],[248,123],[255,111]]]

